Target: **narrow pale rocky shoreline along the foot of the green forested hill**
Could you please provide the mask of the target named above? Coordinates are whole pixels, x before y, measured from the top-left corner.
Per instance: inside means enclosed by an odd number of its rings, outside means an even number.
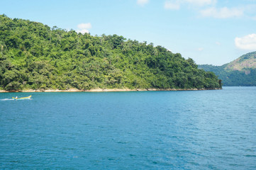
[[[59,89],[28,89],[21,91],[6,91],[0,90],[0,93],[34,93],[34,92],[118,92],[118,91],[201,91],[201,90],[221,90],[221,89],[91,89],[91,90],[79,90],[79,89],[68,89],[68,90],[59,90]]]

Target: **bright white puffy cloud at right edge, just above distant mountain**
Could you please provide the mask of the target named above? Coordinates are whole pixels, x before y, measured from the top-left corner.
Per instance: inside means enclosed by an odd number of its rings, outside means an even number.
[[[256,34],[235,38],[235,46],[242,50],[256,50]]]

